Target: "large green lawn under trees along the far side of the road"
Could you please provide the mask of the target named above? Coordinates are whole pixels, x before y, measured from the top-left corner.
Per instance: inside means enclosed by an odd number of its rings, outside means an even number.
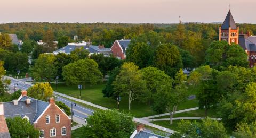
[[[85,85],[85,89],[81,90],[81,98],[79,98],[78,86],[67,86],[65,84],[58,84],[57,89],[55,84],[52,84],[54,91],[67,94],[68,96],[82,99],[85,101],[92,102],[94,104],[106,107],[106,108],[117,108],[117,102],[114,99],[105,98],[101,93],[101,90],[105,88],[105,84]],[[187,100],[179,106],[178,110],[197,107],[198,102],[196,100]],[[152,114],[151,106],[145,103],[138,102],[137,100],[132,101],[131,110],[128,110],[128,98],[122,97],[119,105],[121,111],[130,112],[134,117],[146,117]]]

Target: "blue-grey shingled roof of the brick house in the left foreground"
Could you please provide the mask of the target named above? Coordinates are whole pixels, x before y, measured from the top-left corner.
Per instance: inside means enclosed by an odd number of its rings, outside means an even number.
[[[18,105],[14,105],[13,102],[3,102],[4,104],[4,115],[5,117],[29,117],[29,122],[33,123],[35,120],[43,113],[46,107],[49,105],[48,102],[37,100],[31,97],[31,102],[29,105],[25,103],[27,96],[23,96]]]

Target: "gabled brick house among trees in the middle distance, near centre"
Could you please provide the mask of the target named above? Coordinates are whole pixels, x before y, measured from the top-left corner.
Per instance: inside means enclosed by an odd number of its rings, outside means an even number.
[[[126,58],[126,50],[130,44],[131,39],[116,40],[111,47],[111,51],[114,57],[118,59]]]

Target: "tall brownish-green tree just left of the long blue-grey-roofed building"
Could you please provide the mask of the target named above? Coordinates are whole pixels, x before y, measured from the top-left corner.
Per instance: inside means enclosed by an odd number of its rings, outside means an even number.
[[[44,49],[46,53],[52,53],[57,49],[56,44],[54,44],[54,34],[51,30],[45,31],[42,40],[45,43]]]

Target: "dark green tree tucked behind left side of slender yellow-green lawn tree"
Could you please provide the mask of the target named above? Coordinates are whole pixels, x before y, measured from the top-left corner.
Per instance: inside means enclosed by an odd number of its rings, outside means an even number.
[[[102,90],[103,97],[108,98],[116,98],[115,90],[113,87],[113,82],[116,80],[117,75],[120,73],[120,68],[116,67],[114,70],[111,71],[111,74],[109,75],[108,81],[106,83],[105,88]]]

